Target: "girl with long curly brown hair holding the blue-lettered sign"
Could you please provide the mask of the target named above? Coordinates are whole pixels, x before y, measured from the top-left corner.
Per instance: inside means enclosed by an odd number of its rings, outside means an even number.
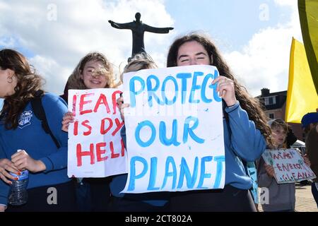
[[[216,46],[204,35],[179,37],[170,46],[167,67],[213,65],[221,76],[214,79],[223,98],[225,143],[225,188],[220,190],[177,192],[171,198],[172,211],[255,211],[249,189],[252,179],[244,162],[261,156],[266,141],[271,143],[270,128],[259,102],[237,83]]]

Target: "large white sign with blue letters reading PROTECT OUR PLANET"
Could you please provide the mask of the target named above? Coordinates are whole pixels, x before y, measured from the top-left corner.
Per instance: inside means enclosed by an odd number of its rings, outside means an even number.
[[[225,182],[222,101],[213,66],[124,74],[129,175],[124,193],[219,189]]]

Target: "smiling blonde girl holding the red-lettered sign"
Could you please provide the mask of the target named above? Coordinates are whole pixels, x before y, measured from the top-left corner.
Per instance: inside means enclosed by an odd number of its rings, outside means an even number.
[[[67,102],[69,89],[86,90],[94,88],[114,88],[112,64],[104,54],[91,52],[79,61],[61,95]],[[73,115],[67,112],[62,121],[62,130],[68,131]],[[80,211],[107,211],[110,199],[110,178],[76,179],[76,197]]]

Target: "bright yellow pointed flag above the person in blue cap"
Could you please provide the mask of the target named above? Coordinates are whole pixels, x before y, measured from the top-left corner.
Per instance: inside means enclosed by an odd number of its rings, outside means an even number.
[[[300,123],[304,114],[316,112],[317,108],[318,96],[310,73],[305,47],[293,38],[290,49],[285,121]]]

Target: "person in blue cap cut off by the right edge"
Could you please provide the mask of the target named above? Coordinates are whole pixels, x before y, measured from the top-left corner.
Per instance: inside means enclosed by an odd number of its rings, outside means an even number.
[[[306,154],[310,168],[318,176],[318,112],[307,113],[302,117],[302,129],[306,133]],[[312,195],[318,207],[318,179],[312,183]]]

